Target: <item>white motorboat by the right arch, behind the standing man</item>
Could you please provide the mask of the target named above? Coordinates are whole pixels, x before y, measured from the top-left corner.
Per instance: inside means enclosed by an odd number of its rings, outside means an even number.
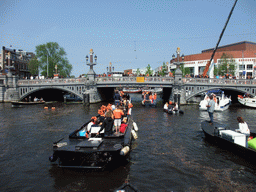
[[[214,111],[224,111],[226,109],[229,108],[229,106],[231,105],[231,96],[227,97],[224,94],[224,91],[218,89],[218,90],[211,90],[208,91],[205,96],[204,99],[202,101],[200,101],[199,103],[199,110],[203,110],[206,111],[207,110],[207,105],[210,101],[209,96],[213,95],[213,99],[215,101],[215,108]]]

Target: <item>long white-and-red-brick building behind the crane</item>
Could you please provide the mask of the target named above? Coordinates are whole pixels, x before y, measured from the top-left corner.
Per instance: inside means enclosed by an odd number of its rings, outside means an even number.
[[[184,67],[190,69],[190,74],[195,76],[202,75],[213,51],[214,49],[212,48],[203,50],[200,54],[186,55],[183,61]],[[210,78],[214,77],[214,67],[217,67],[221,63],[221,56],[224,53],[230,55],[234,60],[236,78],[256,77],[256,43],[243,41],[218,47],[209,68]],[[177,58],[171,60],[170,64],[167,64],[168,72],[176,69],[176,65],[173,64],[176,61]]]

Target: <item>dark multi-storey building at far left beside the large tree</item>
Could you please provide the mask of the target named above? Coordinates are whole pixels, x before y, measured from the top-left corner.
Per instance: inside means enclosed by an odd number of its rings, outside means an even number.
[[[0,55],[0,71],[2,74],[7,74],[10,70],[19,79],[30,78],[28,63],[34,56],[32,52],[16,51],[3,46]]]

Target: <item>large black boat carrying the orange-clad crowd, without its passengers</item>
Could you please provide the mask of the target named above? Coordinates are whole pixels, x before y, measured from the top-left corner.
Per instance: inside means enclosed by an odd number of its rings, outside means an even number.
[[[125,161],[132,150],[132,140],[137,139],[136,123],[129,118],[124,133],[104,137],[104,131],[97,136],[100,126],[91,127],[91,137],[85,134],[87,122],[72,132],[68,138],[53,143],[51,162],[64,168],[103,169],[114,162]]]

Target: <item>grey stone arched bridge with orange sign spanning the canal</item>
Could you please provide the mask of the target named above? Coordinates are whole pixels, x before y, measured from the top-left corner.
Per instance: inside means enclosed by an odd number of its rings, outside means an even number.
[[[44,89],[58,89],[77,95],[84,99],[89,95],[90,103],[102,100],[98,90],[105,88],[123,87],[150,87],[171,89],[176,94],[189,101],[194,96],[211,89],[233,90],[242,93],[256,93],[256,80],[234,80],[234,79],[205,79],[205,78],[180,78],[176,81],[171,77],[96,77],[94,81],[86,78],[70,79],[34,79],[16,80],[15,77],[0,79],[0,99],[2,101],[22,100],[28,95]],[[176,89],[176,91],[175,91]],[[11,92],[8,90],[12,90]],[[16,97],[13,91],[16,90]]]

